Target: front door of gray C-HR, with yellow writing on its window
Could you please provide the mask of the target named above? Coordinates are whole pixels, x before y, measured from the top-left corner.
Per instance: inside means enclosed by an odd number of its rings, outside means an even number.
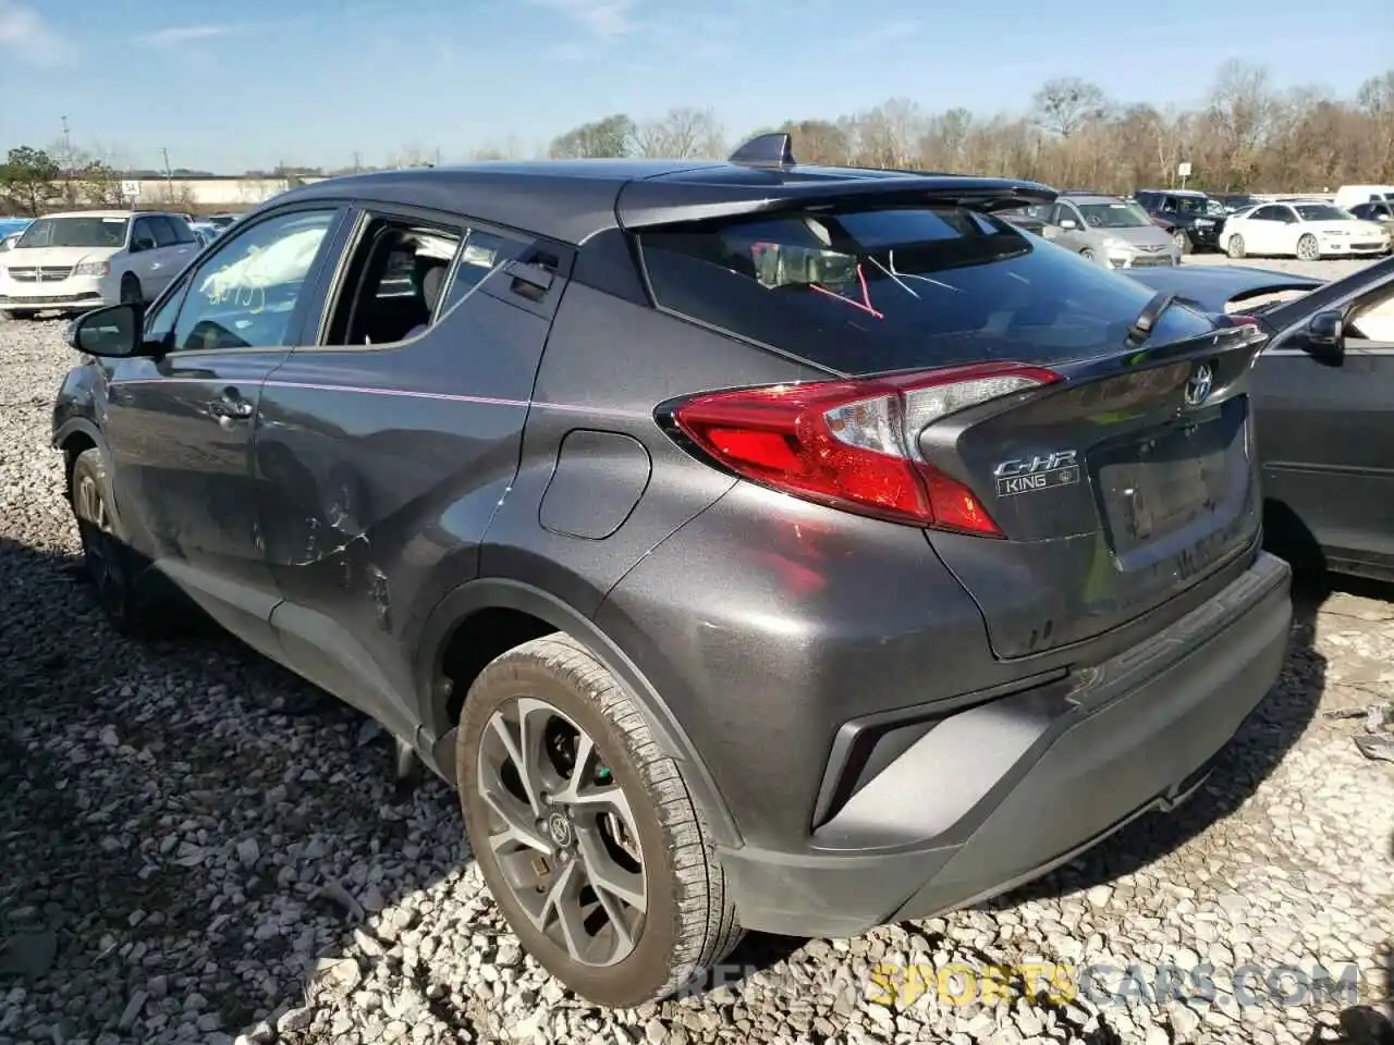
[[[158,568],[217,623],[275,655],[276,603],[259,532],[251,443],[262,382],[300,330],[300,288],[339,208],[248,224],[145,319],[146,354],[117,361],[102,429]]]

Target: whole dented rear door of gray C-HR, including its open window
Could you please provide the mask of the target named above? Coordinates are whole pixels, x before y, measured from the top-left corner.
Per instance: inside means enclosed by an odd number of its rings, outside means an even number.
[[[284,662],[413,740],[414,628],[478,573],[565,283],[533,240],[364,205],[254,450]],[[544,258],[545,261],[545,258]],[[534,274],[530,274],[534,273]]]

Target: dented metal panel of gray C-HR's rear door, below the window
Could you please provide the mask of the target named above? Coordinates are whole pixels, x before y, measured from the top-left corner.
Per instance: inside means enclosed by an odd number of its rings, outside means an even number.
[[[548,322],[475,294],[425,336],[297,350],[262,393],[255,472],[287,660],[382,719],[415,726],[425,614],[477,575],[517,470]]]

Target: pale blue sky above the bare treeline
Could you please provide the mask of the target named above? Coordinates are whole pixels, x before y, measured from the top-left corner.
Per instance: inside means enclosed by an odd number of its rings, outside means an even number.
[[[1351,95],[1394,64],[1388,3],[0,0],[0,149],[52,142],[67,116],[74,142],[135,167],[160,146],[217,171],[450,162],[671,106],[714,109],[728,137],[892,96],[1022,110],[1057,75],[1184,104],[1231,57]]]

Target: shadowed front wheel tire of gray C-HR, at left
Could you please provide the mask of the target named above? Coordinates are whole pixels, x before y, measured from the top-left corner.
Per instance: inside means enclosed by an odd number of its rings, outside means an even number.
[[[96,449],[72,463],[68,499],[82,539],[82,563],[96,601],[112,627],[131,638],[155,638],[164,631],[155,603],[142,596],[138,564],[125,543],[125,531],[112,500],[106,461]]]

